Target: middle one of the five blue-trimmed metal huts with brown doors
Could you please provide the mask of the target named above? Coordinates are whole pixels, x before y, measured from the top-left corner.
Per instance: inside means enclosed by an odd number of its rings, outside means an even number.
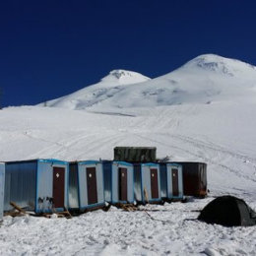
[[[134,203],[133,164],[125,161],[103,160],[104,193],[106,202]]]

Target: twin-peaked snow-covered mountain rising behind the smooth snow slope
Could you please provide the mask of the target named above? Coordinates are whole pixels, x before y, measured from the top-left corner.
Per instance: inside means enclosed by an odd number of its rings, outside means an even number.
[[[47,106],[85,109],[255,100],[256,67],[214,54],[198,56],[155,79],[115,70],[96,85],[47,101]]]

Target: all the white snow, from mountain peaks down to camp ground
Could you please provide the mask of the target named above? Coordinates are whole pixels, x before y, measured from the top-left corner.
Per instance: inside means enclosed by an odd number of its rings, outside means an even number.
[[[5,217],[0,254],[255,255],[256,226],[191,220],[224,194],[256,210],[255,94],[255,67],[210,54],[160,78],[117,70],[70,96],[4,108],[1,161],[112,159],[116,146],[154,146],[158,158],[207,162],[210,194],[71,220]]]

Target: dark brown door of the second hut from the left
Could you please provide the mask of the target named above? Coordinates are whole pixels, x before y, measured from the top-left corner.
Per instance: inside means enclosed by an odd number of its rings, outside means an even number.
[[[87,193],[88,193],[88,204],[97,203],[96,194],[96,167],[87,168]]]

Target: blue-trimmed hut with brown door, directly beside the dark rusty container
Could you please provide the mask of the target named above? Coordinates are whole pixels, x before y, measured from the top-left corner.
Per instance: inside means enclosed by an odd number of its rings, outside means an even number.
[[[164,201],[183,199],[182,165],[160,162],[160,194]]]

